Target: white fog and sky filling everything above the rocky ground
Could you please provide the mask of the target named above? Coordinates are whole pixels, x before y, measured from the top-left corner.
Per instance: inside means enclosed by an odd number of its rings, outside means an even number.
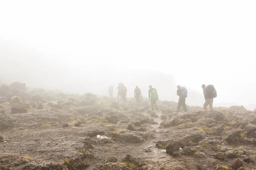
[[[256,2],[1,1],[0,78],[70,93],[108,95],[123,82],[128,96],[148,85],[160,99],[214,105],[256,104]],[[115,91],[116,94],[116,91]]]

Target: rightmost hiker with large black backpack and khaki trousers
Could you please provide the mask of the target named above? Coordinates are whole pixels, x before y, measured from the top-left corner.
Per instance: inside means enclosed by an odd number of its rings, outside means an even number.
[[[213,104],[213,98],[217,97],[217,92],[213,85],[202,85],[203,93],[204,93],[204,110],[206,111],[207,106],[209,105],[210,110],[213,110],[212,104]]]

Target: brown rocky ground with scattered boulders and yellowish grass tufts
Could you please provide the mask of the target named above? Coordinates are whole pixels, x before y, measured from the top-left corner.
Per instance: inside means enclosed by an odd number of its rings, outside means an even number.
[[[0,87],[0,170],[253,170],[256,114]]]

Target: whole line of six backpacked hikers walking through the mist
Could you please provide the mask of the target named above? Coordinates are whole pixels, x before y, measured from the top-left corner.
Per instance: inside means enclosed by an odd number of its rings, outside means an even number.
[[[206,86],[203,84],[201,87],[203,89],[203,94],[204,94],[204,99],[205,99],[203,108],[204,108],[204,110],[206,110],[207,106],[209,105],[210,110],[212,110],[213,109],[213,107],[212,107],[213,99],[215,97],[217,97],[217,92],[213,85]],[[127,88],[125,87],[125,85],[120,82],[116,89],[118,89],[117,98],[119,99],[119,97],[120,97],[123,102],[126,102],[127,101],[127,99],[126,99]],[[111,96],[111,98],[113,98],[114,86],[110,85],[108,88],[108,92],[109,92],[109,95]],[[180,85],[177,85],[177,96],[179,96],[179,101],[178,101],[178,105],[177,105],[175,112],[178,113],[181,106],[182,106],[184,112],[187,112],[186,97],[188,96],[188,92],[187,92],[186,88],[181,87]],[[137,105],[140,106],[140,99],[142,99],[142,94],[141,94],[141,90],[138,86],[136,86],[136,88],[134,89],[134,97],[136,99]],[[158,110],[157,100],[159,98],[158,98],[158,94],[157,94],[157,89],[152,88],[151,85],[149,86],[149,90],[148,90],[148,99],[151,102],[152,111],[154,111],[154,108],[156,108],[156,110]]]

